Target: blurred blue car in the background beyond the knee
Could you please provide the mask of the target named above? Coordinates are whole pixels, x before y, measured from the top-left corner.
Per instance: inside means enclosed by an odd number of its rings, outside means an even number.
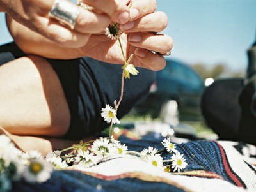
[[[135,110],[168,122],[177,113],[176,109],[179,120],[198,120],[203,92],[204,81],[198,73],[184,63],[168,59],[166,68],[156,73],[150,95]]]

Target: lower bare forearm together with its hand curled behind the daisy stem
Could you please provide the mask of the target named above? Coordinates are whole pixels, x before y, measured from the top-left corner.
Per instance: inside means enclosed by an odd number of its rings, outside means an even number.
[[[137,4],[136,4],[137,3]],[[150,5],[150,6],[147,6]],[[163,12],[154,12],[156,10],[156,1],[133,1],[132,11],[138,10],[136,17],[130,18],[127,24],[121,25],[125,33],[122,33],[120,40],[127,57],[134,54],[131,63],[135,66],[149,68],[154,71],[162,70],[166,66],[163,56],[150,52],[153,50],[164,54],[173,47],[173,40],[165,34],[152,34],[150,32],[161,32],[168,24],[168,18]],[[27,54],[40,55],[42,57],[52,59],[74,59],[77,57],[92,57],[94,59],[107,63],[123,64],[123,57],[120,52],[118,41],[110,40],[104,34],[92,34],[88,39],[88,43],[79,48],[60,47],[53,41],[47,40],[44,36],[34,33],[21,24],[7,17],[10,33],[20,48]],[[129,30],[125,30],[127,25],[134,24]],[[132,37],[140,36],[141,41],[134,41]],[[40,45],[40,47],[38,47]],[[129,45],[129,48],[127,48]],[[52,51],[49,52],[49,47]]]

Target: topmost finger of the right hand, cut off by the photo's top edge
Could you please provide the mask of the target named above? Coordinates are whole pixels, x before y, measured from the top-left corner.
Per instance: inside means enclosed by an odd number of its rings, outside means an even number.
[[[130,9],[130,21],[136,20],[137,18],[143,17],[148,13],[154,13],[156,11],[156,0],[134,0]]]

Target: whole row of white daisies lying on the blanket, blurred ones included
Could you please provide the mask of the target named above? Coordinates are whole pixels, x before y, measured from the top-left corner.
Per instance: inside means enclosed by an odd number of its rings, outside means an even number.
[[[136,152],[128,151],[127,145],[121,144],[113,136],[100,137],[90,142],[81,141],[62,151],[48,152],[45,158],[38,151],[20,151],[6,135],[0,135],[0,141],[0,191],[9,191],[13,181],[45,182],[51,177],[54,169],[62,170],[70,166],[88,168],[113,158],[138,158],[166,172],[180,172],[187,165],[186,159],[175,149],[175,144],[170,142],[170,138],[164,138],[164,149],[161,151],[148,147]],[[61,154],[65,151],[70,152]],[[173,155],[164,160],[160,154],[162,151]]]

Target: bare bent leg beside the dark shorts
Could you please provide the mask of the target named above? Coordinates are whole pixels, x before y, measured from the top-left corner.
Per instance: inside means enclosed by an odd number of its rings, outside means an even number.
[[[60,80],[45,59],[22,57],[1,66],[0,92],[0,126],[12,133],[6,135],[23,151],[41,149],[45,154],[58,148],[52,147],[52,143],[56,144],[52,139],[28,137],[60,137],[70,124]],[[0,129],[0,134],[3,132]],[[61,142],[59,145],[65,146]]]

